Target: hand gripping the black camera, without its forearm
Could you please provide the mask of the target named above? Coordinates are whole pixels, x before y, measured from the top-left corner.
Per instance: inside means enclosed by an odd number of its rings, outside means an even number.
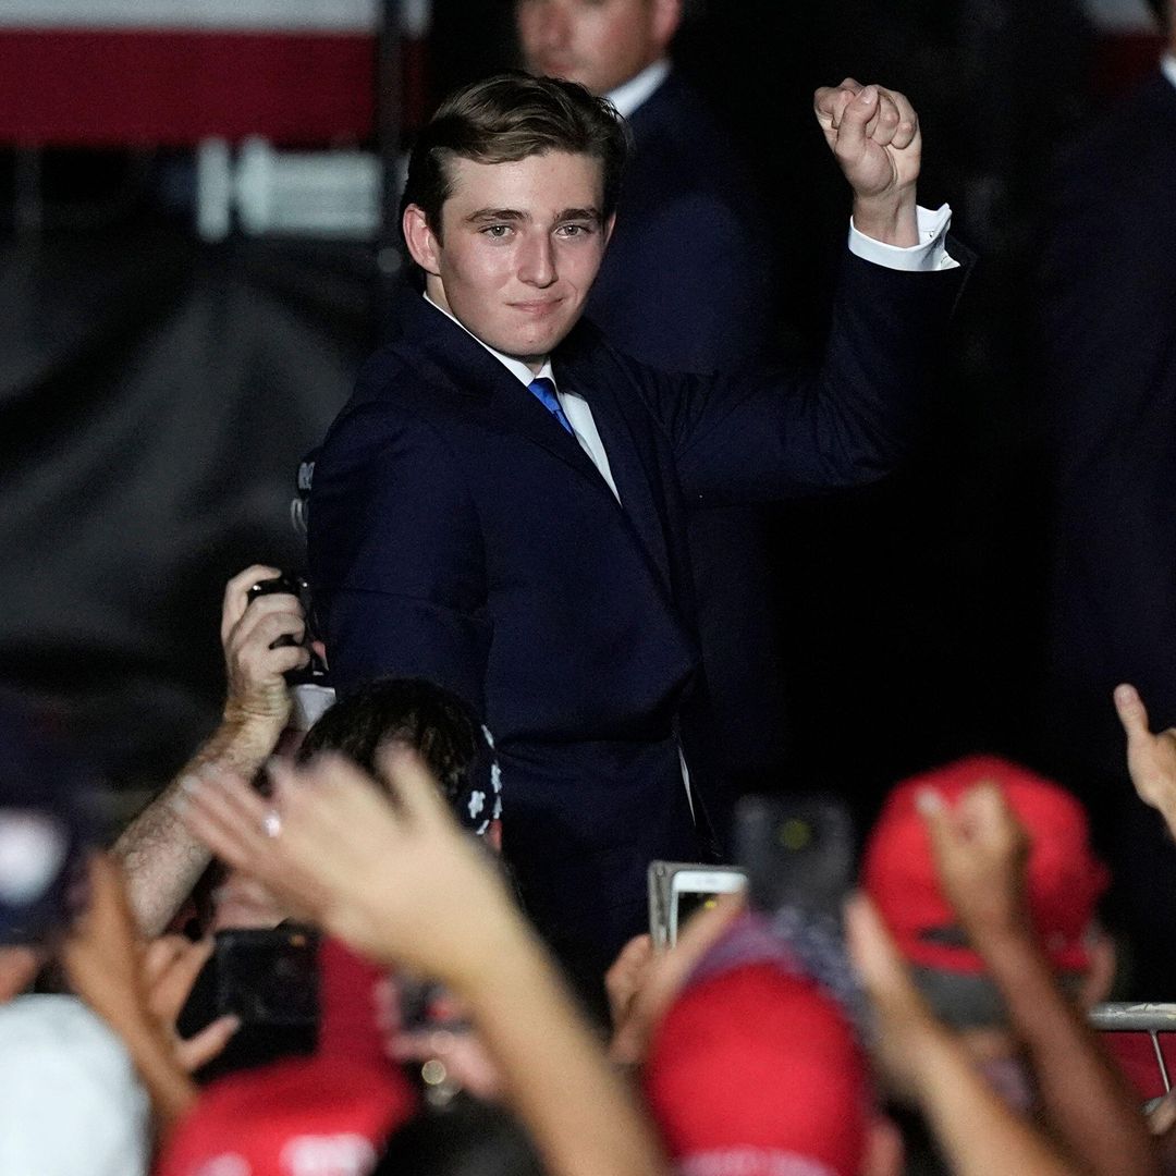
[[[276,568],[253,564],[225,587],[221,610],[221,646],[228,694],[227,723],[254,729],[278,742],[290,714],[285,674],[305,668],[309,650],[306,616],[298,596],[282,587]]]

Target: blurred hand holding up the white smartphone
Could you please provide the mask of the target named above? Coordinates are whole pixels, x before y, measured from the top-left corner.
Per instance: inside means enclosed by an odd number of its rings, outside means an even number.
[[[640,1065],[644,1061],[654,1029],[687,977],[744,910],[744,894],[721,894],[690,917],[674,947],[657,951],[649,935],[629,940],[604,974],[613,1021],[612,1062]]]

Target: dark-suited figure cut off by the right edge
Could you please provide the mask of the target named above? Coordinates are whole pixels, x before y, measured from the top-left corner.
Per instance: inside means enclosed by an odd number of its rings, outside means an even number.
[[[1176,28],[1063,158],[1043,256],[1054,479],[1045,741],[1108,842],[1137,995],[1176,970],[1171,847],[1131,796],[1111,690],[1176,723]]]

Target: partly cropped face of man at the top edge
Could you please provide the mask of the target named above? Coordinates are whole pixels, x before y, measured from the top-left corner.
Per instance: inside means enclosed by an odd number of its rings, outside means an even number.
[[[516,0],[515,20],[532,73],[607,94],[661,58],[681,0]]]

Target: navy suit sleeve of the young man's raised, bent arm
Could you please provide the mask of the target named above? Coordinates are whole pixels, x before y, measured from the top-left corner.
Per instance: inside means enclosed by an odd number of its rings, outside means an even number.
[[[903,273],[847,250],[816,370],[748,368],[686,377],[684,389],[683,377],[652,374],[687,502],[770,501],[889,473],[917,437],[967,269]]]

